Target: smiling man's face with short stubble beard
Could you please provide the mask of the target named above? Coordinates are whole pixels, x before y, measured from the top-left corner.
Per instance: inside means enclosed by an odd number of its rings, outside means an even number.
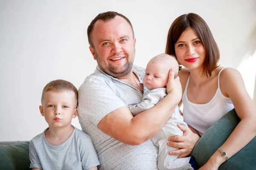
[[[91,37],[90,51],[102,71],[116,78],[131,72],[136,39],[124,18],[116,16],[106,22],[96,21]]]

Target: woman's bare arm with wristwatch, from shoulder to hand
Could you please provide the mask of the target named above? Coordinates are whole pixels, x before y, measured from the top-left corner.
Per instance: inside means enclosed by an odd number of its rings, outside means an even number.
[[[231,158],[256,136],[256,106],[245,89],[241,74],[236,69],[226,68],[221,72],[220,88],[224,96],[230,97],[241,119],[220,147],[227,153],[228,158]],[[216,150],[202,169],[212,164],[219,166],[224,161],[226,159],[221,156],[220,151]]]

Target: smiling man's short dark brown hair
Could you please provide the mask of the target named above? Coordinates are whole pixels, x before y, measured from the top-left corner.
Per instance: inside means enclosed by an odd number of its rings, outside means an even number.
[[[132,28],[132,25],[131,25],[131,22],[130,20],[125,17],[124,15],[122,14],[119,14],[117,12],[114,12],[114,11],[108,11],[108,12],[104,12],[104,13],[99,13],[99,15],[97,15],[93,20],[92,22],[90,23],[90,25],[88,26],[87,28],[87,37],[88,37],[88,42],[90,44],[91,47],[93,47],[93,42],[92,42],[92,31],[93,31],[93,26],[94,24],[96,23],[97,20],[103,20],[104,22],[105,21],[109,21],[109,20],[112,20],[114,19],[116,16],[120,16],[122,18],[124,18],[131,26],[131,29],[132,29],[132,33],[133,33],[133,37],[134,37],[134,30]]]

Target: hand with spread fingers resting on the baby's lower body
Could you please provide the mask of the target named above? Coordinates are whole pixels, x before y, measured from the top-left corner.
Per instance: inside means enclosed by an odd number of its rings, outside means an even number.
[[[180,148],[178,150],[172,150],[169,152],[170,155],[179,155],[178,158],[189,155],[195,147],[200,137],[198,134],[193,133],[189,127],[179,125],[177,126],[183,131],[183,136],[171,136],[169,137],[168,146]]]

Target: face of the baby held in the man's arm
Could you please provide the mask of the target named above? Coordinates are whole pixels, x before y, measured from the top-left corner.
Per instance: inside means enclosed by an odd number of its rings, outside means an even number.
[[[154,62],[148,62],[145,77],[143,78],[143,85],[145,85],[148,90],[165,88],[168,73],[169,70],[166,69],[166,67],[161,67],[161,65],[154,64]]]

